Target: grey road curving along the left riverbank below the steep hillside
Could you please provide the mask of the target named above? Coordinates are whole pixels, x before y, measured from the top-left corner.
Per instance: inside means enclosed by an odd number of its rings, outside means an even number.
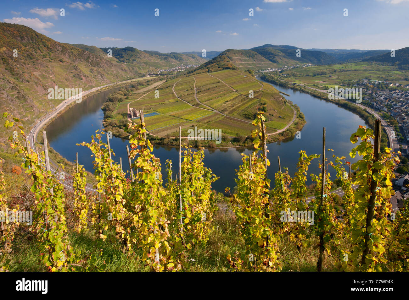
[[[102,89],[104,87],[109,87],[111,85],[114,84],[122,84],[122,83],[126,83],[126,82],[131,82],[134,80],[141,80],[143,78],[136,78],[136,79],[130,79],[130,80],[125,80],[125,81],[121,81],[121,82],[114,82],[114,83],[110,83],[110,84],[105,84],[101,87],[94,87],[93,89],[90,89],[88,91],[82,92],[81,93],[81,98],[83,96],[88,95],[89,93],[92,93],[94,91],[98,91],[99,89]],[[34,150],[34,152],[37,152],[36,149],[36,143],[35,143],[35,139],[36,136],[38,135],[38,133],[40,132],[40,129],[49,121],[52,120],[54,117],[56,117],[58,115],[58,113],[60,111],[62,111],[63,109],[65,109],[65,107],[67,107],[68,105],[70,105],[72,102],[76,101],[75,96],[72,96],[71,98],[64,100],[63,102],[61,102],[60,104],[58,104],[58,106],[54,109],[54,111],[50,112],[47,116],[45,116],[43,119],[39,120],[34,127],[31,129],[30,133],[27,135],[27,140],[29,141],[29,144],[31,146],[31,149]],[[56,175],[57,178],[60,178],[61,173],[58,173],[56,168],[53,166],[55,165],[52,161],[50,161],[50,169],[51,171]],[[67,176],[65,176],[67,177]],[[67,187],[68,189],[72,189],[72,180],[69,179],[65,179],[64,181],[60,181],[58,180],[61,184],[63,184],[65,187]],[[85,186],[85,190],[86,191],[91,191],[91,192],[96,192],[95,189],[92,188],[91,185],[87,184]]]

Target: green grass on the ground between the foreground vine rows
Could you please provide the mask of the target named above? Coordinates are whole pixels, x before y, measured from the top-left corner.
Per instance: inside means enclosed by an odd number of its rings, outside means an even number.
[[[198,246],[189,257],[190,265],[185,271],[230,271],[227,255],[232,256],[236,251],[245,253],[243,236],[235,221],[231,210],[218,210],[213,219],[214,230],[211,231],[206,246]],[[98,253],[96,232],[88,229],[78,234],[70,231],[68,238],[74,253],[79,253],[80,264],[86,266],[86,260],[92,253]],[[311,239],[311,244],[315,239]],[[115,244],[103,242],[103,255],[97,258],[97,266],[106,262],[104,271],[148,271],[141,260],[142,253],[136,249],[134,254],[122,253],[115,249]],[[316,271],[318,250],[313,246],[303,248],[302,254],[290,240],[283,236],[279,244],[280,259],[283,271]],[[332,251],[333,252],[333,251]],[[14,240],[10,271],[44,271],[38,259],[36,240],[31,233],[20,231]],[[336,271],[336,253],[326,257],[323,264],[324,271]],[[81,267],[80,267],[81,269]],[[85,268],[84,268],[85,269]]]

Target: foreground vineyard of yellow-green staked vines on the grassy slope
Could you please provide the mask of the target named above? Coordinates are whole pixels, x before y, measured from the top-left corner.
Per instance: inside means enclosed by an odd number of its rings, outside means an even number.
[[[19,207],[7,198],[5,191],[12,183],[2,176],[0,211],[13,212],[11,216],[33,211],[33,222],[1,220],[0,271],[111,271],[114,263],[124,270],[130,262],[138,271],[196,271],[203,270],[203,263],[207,271],[409,267],[408,202],[392,211],[391,179],[399,159],[389,149],[380,152],[379,120],[375,130],[360,126],[352,133],[355,147],[350,156],[362,158],[351,166],[345,157],[328,155],[324,128],[322,153],[307,155],[301,150],[291,176],[285,167],[268,168],[266,119],[258,113],[252,122],[254,151],[242,154],[237,188],[226,189],[232,194],[224,197],[211,189],[219,178],[205,167],[202,148],[180,146],[179,162],[165,162],[164,180],[163,162],[146,138],[143,118],[133,124],[135,133],[130,136],[130,174],[112,160],[114,149],[105,133],[96,131],[91,142],[80,144],[92,151],[95,193],[86,191],[86,173],[78,161],[72,170],[57,172],[70,174],[72,189],[67,189],[66,178],[50,171],[47,143],[36,153],[20,120],[7,113],[3,118],[11,148],[31,178],[27,193],[33,200]],[[177,174],[171,171],[175,163]],[[316,185],[314,198],[307,202],[311,164],[318,164],[321,172],[311,175]],[[345,166],[356,173],[348,173]],[[335,179],[344,191],[341,203],[331,193]],[[22,262],[23,256],[30,262]]]

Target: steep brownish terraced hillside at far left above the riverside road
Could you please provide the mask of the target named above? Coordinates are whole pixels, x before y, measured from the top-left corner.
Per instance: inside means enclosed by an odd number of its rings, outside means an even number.
[[[92,53],[56,42],[24,25],[0,22],[0,45],[0,110],[20,118],[26,129],[63,101],[49,100],[49,88],[87,90],[140,76],[115,59],[94,54],[95,48]]]

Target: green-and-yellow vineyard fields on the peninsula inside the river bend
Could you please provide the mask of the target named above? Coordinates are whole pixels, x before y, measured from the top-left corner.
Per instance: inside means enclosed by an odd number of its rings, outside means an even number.
[[[221,129],[228,136],[248,136],[257,110],[265,111],[267,134],[274,134],[290,124],[294,109],[270,85],[263,85],[250,73],[223,70],[178,77],[164,82],[159,97],[155,89],[149,93],[135,92],[122,102],[115,113],[128,113],[127,105],[143,109],[147,130],[160,137],[182,136],[188,129]],[[253,91],[253,97],[250,97]],[[155,116],[147,116],[156,112]]]

